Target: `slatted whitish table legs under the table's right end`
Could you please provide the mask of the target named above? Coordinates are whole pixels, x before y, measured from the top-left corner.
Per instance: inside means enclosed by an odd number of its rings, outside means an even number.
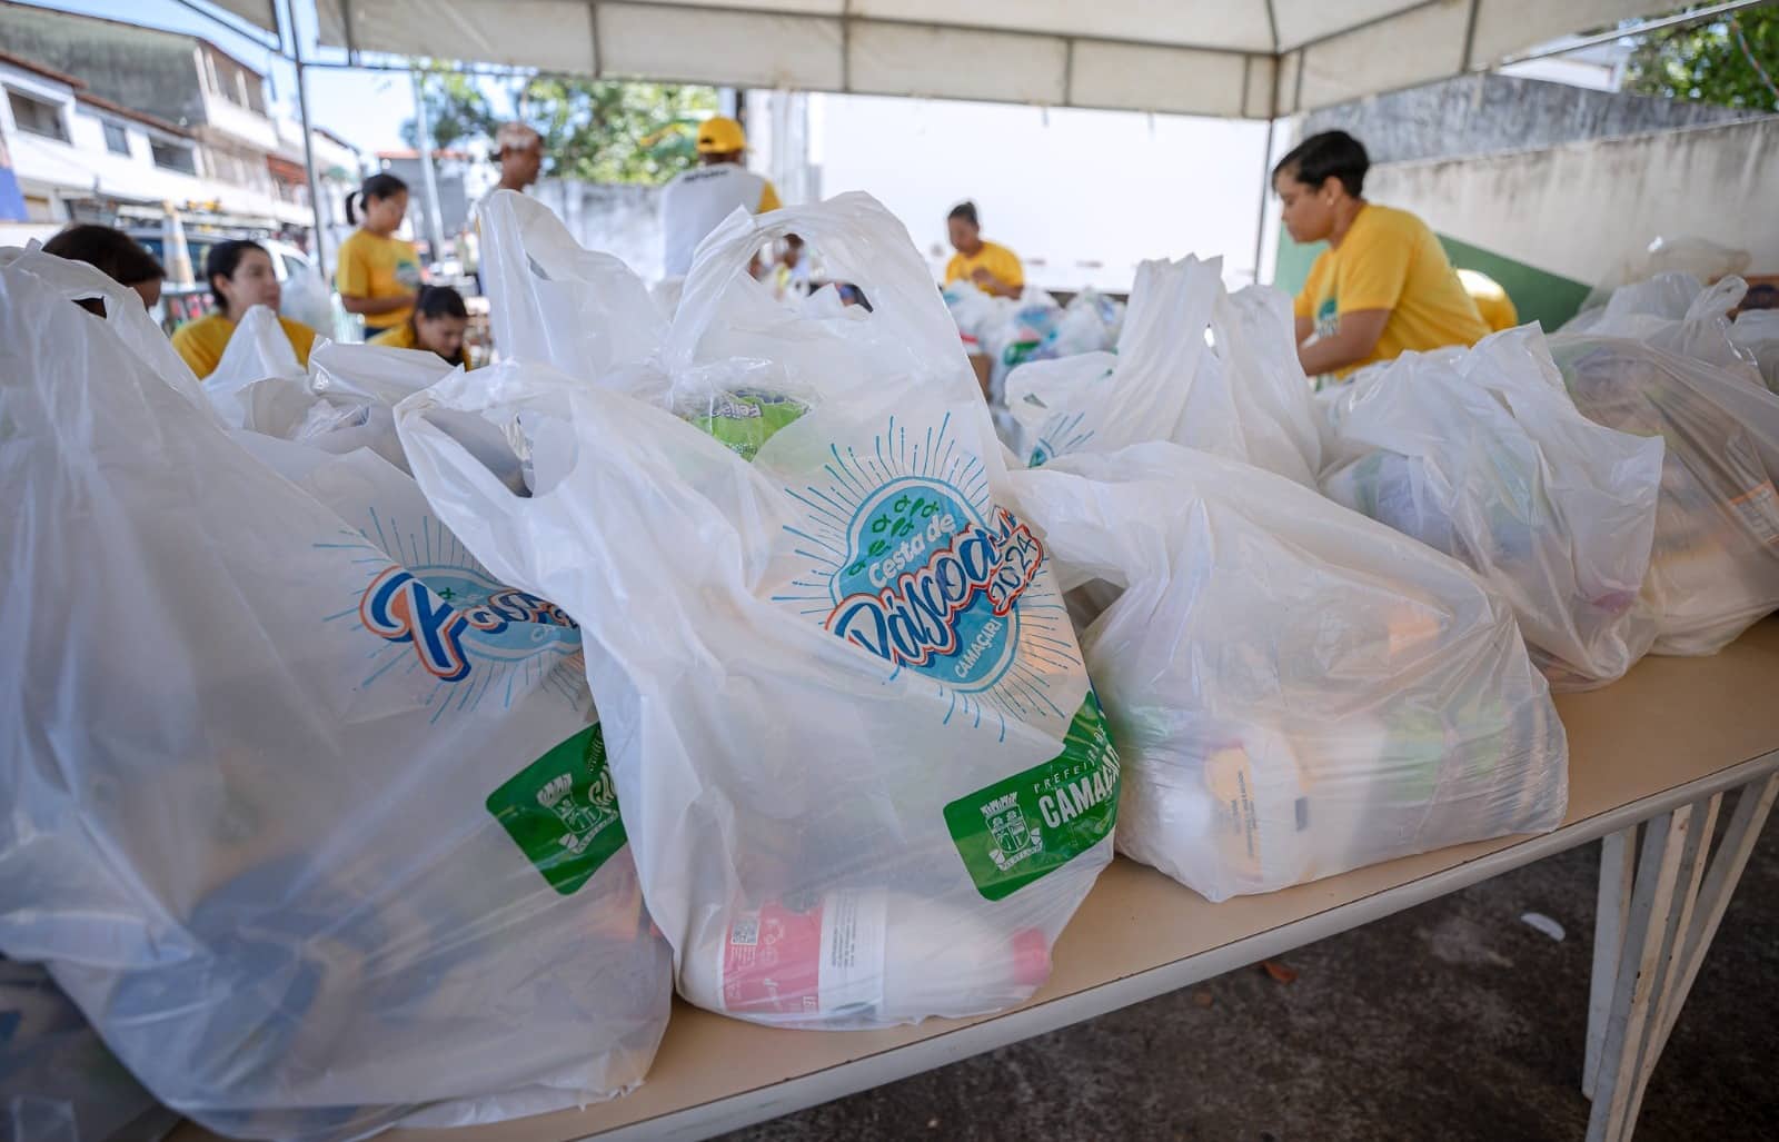
[[[1779,793],[1779,774],[1742,786],[1711,854],[1722,793],[1606,838],[1582,1087],[1594,1099],[1589,1142],[1626,1142],[1667,1044]],[[1610,996],[1601,1001],[1603,996]],[[1596,1046],[1598,1044],[1598,1046]]]

